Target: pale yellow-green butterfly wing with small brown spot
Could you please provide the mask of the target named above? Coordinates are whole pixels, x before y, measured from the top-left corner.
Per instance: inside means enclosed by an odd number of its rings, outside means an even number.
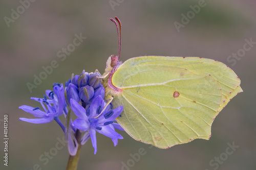
[[[209,139],[214,118],[242,91],[233,70],[199,57],[131,58],[111,82],[121,89],[112,93],[113,105],[124,106],[117,122],[134,139],[158,148]]]

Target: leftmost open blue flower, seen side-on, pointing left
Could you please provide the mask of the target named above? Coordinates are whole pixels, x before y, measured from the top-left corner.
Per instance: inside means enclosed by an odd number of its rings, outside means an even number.
[[[46,97],[48,96],[48,99]],[[40,102],[43,110],[40,110],[39,107],[33,108],[31,106],[20,106],[19,109],[23,109],[24,111],[33,114],[38,118],[19,118],[19,120],[23,120],[25,122],[33,123],[33,124],[45,124],[51,122],[53,119],[60,125],[63,131],[65,131],[65,127],[58,119],[58,116],[63,114],[63,109],[66,105],[65,102],[65,91],[63,87],[59,84],[53,87],[53,91],[46,90],[46,95],[44,98],[31,98],[31,100],[35,100]],[[47,106],[47,108],[45,107]]]

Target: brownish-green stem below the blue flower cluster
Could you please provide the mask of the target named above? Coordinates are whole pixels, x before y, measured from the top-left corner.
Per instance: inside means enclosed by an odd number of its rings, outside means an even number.
[[[69,156],[69,161],[66,170],[76,170],[78,165],[78,160],[80,156],[81,150],[81,132],[79,130],[76,131],[75,137],[78,142],[78,148],[75,156]]]

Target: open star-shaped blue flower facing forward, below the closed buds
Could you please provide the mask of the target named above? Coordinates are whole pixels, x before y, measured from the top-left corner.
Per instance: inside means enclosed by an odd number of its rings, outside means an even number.
[[[122,127],[114,123],[115,119],[121,114],[123,106],[112,110],[112,105],[106,106],[101,95],[96,96],[87,109],[84,109],[73,99],[70,100],[70,103],[73,112],[78,117],[74,120],[72,125],[79,130],[86,131],[82,137],[81,144],[84,144],[89,137],[91,137],[94,154],[97,152],[96,131],[110,137],[114,142],[114,146],[117,145],[117,139],[123,139],[123,137],[115,131],[115,128],[123,131]]]

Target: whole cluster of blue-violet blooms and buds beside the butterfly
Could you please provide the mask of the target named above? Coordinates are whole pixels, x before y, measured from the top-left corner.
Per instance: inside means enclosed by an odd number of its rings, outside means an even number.
[[[123,131],[122,127],[114,123],[120,116],[123,106],[113,109],[112,104],[106,103],[104,99],[105,89],[101,84],[100,74],[98,72],[89,74],[83,70],[79,76],[72,75],[65,87],[54,83],[53,91],[46,90],[44,98],[31,98],[40,102],[43,110],[26,105],[19,107],[37,118],[19,119],[34,124],[49,123],[54,119],[65,132],[70,155],[76,155],[78,143],[84,144],[89,138],[92,140],[96,154],[96,132],[110,137],[114,146],[117,145],[118,139],[123,138],[115,131],[115,129]],[[70,110],[77,116],[74,122],[69,116]],[[58,118],[60,115],[66,117],[65,126]],[[77,141],[76,133],[82,134],[80,141]]]

